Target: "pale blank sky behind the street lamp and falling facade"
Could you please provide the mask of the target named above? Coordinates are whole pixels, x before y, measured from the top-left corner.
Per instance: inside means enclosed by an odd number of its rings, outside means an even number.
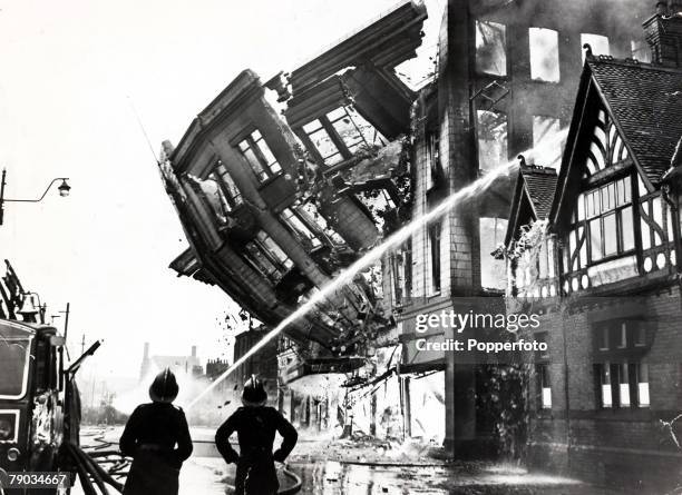
[[[426,1],[422,61],[445,1]],[[243,69],[265,81],[394,4],[0,0],[6,198],[37,198],[55,177],[72,187],[68,198],[52,189],[39,204],[6,204],[0,256],[49,317],[60,315],[58,327],[70,303],[72,355],[84,335],[104,339],[98,374],[129,377],[145,341],[152,354],[186,355],[196,345],[202,359],[232,357],[222,321],[237,306],[168,268],[187,242],[159,179],[160,142],[177,143]]]

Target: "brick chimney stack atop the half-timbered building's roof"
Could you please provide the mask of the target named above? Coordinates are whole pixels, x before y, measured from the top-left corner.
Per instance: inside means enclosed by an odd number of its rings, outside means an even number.
[[[656,13],[642,26],[652,63],[682,67],[682,1],[659,1]]]

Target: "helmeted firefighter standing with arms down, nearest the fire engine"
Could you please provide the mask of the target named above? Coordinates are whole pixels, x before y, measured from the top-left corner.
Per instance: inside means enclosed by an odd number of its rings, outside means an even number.
[[[175,375],[166,368],[149,387],[152,403],[130,415],[119,443],[133,457],[124,495],[177,495],[179,469],[192,454],[185,413],[172,404],[177,393]]]

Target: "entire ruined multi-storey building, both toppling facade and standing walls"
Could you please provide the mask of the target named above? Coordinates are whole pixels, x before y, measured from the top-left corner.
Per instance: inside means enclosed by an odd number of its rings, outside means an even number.
[[[172,267],[276,326],[382,236],[559,136],[583,44],[649,60],[639,28],[645,3],[449,0],[436,78],[419,91],[396,73],[421,43],[427,12],[411,1],[290,73],[262,83],[242,72],[177,147],[164,145],[166,188],[191,244]],[[266,100],[274,93],[282,115]],[[533,188],[556,175],[528,164],[524,177],[532,196],[519,215],[545,217],[536,201],[546,198]],[[505,242],[513,192],[500,180],[425,225],[286,328],[283,410],[293,420],[296,410],[342,417],[344,426],[352,417],[366,433],[431,439],[458,455],[489,445],[495,419],[477,402],[485,369],[455,353],[419,352],[416,320],[468,310],[464,296],[503,304],[507,268],[490,253]],[[427,339],[452,329],[429,331]],[[348,375],[347,400],[285,386],[329,373]]]

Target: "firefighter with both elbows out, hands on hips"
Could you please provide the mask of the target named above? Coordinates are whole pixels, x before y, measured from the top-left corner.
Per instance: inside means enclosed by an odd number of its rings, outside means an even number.
[[[244,384],[242,404],[215,433],[215,445],[227,464],[236,464],[235,495],[273,495],[280,483],[274,462],[283,463],[299,434],[284,416],[266,407],[267,393],[263,383],[252,375]],[[230,445],[236,432],[240,453]],[[282,446],[272,452],[275,432],[282,435]]]

